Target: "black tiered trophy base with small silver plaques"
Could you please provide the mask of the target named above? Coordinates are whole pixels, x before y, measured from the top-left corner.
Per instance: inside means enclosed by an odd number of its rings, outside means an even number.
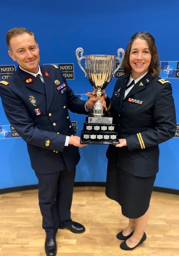
[[[116,125],[112,121],[112,118],[86,118],[80,144],[119,144]]]

